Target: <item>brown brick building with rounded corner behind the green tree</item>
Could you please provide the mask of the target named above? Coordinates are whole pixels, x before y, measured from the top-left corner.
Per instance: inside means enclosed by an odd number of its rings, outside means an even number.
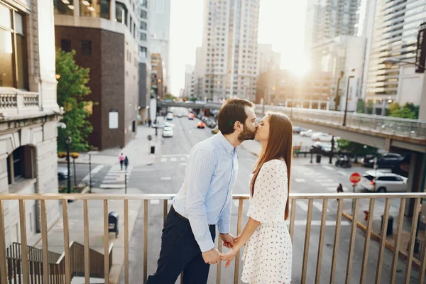
[[[89,116],[89,144],[99,149],[126,145],[136,134],[138,120],[138,3],[53,3],[56,47],[75,50],[77,65],[90,68],[92,94],[84,99],[97,104]]]

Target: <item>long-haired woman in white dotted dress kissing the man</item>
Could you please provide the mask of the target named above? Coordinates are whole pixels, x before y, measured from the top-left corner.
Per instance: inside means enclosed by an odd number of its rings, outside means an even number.
[[[244,244],[245,283],[290,283],[292,245],[288,219],[293,126],[287,116],[268,113],[256,132],[262,152],[250,182],[249,222],[233,248],[221,254],[228,267]]]

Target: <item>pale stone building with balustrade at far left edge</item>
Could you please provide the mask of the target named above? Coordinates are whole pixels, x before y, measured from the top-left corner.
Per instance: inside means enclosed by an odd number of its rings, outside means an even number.
[[[53,3],[2,0],[0,15],[0,192],[58,193]],[[50,228],[59,204],[45,204]],[[6,245],[21,242],[18,202],[3,205]],[[40,200],[28,200],[25,208],[28,245],[34,245]]]

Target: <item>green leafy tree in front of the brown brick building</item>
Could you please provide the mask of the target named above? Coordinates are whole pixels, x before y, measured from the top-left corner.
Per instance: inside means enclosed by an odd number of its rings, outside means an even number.
[[[75,50],[70,53],[56,50],[56,74],[58,75],[57,99],[65,114],[62,122],[66,129],[58,131],[58,150],[66,148],[65,138],[71,137],[70,148],[75,151],[86,151],[89,148],[87,136],[92,133],[92,124],[87,120],[89,111],[85,109],[87,102],[84,97],[91,93],[87,86],[89,82],[89,68],[75,64]]]

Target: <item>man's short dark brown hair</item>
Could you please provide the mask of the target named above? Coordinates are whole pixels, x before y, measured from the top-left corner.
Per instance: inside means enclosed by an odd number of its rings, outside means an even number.
[[[236,121],[245,124],[247,119],[246,107],[254,109],[254,104],[246,99],[226,99],[217,116],[219,131],[224,135],[231,134],[234,133],[234,124]]]

